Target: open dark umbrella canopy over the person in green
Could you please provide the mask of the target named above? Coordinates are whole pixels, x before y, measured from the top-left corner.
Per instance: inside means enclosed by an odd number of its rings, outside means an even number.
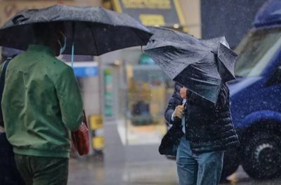
[[[150,31],[125,13],[100,7],[55,5],[25,10],[15,15],[0,29],[0,46],[26,50],[34,43],[32,25],[62,22],[66,27],[67,48],[64,54],[99,56],[131,46],[145,45]]]

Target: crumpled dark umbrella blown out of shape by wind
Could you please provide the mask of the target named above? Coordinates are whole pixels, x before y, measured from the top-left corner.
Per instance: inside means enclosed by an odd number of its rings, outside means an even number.
[[[224,37],[202,40],[190,34],[151,27],[145,53],[166,72],[203,98],[216,103],[222,82],[235,79],[237,54]]]

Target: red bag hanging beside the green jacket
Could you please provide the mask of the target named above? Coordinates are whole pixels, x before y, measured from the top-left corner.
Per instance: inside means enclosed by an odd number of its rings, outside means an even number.
[[[83,120],[77,131],[71,132],[72,142],[79,155],[86,155],[90,151],[89,128],[83,111]]]

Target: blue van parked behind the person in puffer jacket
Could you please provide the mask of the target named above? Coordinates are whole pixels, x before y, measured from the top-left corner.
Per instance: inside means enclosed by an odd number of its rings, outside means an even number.
[[[255,179],[281,174],[281,1],[268,1],[236,49],[231,113],[240,148],[226,151],[225,178],[241,164]]]

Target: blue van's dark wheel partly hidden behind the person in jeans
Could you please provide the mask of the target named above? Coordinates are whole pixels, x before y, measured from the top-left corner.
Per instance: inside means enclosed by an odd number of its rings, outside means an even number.
[[[230,174],[233,174],[239,165],[240,160],[237,150],[227,150],[223,157],[223,172],[221,173],[221,181],[225,181],[226,177],[230,176]]]

